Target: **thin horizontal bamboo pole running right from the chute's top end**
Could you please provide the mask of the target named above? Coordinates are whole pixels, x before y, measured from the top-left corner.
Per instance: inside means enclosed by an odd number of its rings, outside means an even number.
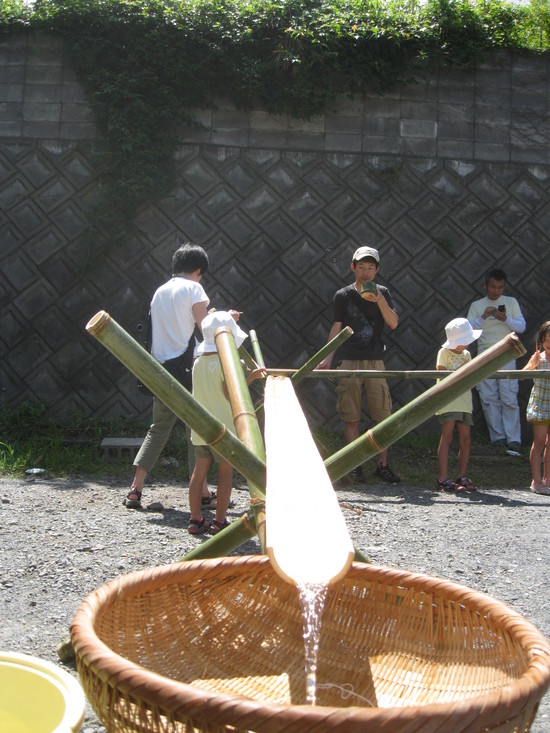
[[[294,382],[294,376],[301,371],[300,369],[266,369],[270,377],[290,377]],[[342,379],[344,377],[356,377],[358,379],[442,379],[448,377],[454,372],[441,369],[416,369],[416,370],[391,370],[391,369],[313,369],[303,378],[328,378]],[[550,379],[550,370],[530,370],[524,369],[499,369],[494,374],[490,374],[485,379]],[[295,382],[294,382],[295,383]]]

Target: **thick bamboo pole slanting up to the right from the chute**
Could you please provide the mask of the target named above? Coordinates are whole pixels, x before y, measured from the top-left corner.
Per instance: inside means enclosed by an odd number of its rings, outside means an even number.
[[[512,354],[525,354],[525,348],[513,333],[330,456],[325,465],[331,479],[335,481],[388,448],[459,394],[508,363],[513,358]]]

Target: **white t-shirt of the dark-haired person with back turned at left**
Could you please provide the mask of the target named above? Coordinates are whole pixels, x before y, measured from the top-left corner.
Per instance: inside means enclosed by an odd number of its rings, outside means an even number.
[[[151,354],[157,361],[163,364],[183,354],[195,329],[193,306],[209,302],[202,285],[183,275],[158,288],[151,301]]]

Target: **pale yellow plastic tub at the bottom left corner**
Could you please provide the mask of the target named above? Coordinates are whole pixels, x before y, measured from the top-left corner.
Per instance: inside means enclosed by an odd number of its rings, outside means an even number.
[[[68,672],[28,654],[0,651],[0,733],[75,733],[85,705]]]

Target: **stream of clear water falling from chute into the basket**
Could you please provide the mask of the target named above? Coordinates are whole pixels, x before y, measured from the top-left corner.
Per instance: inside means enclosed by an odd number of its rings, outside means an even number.
[[[317,657],[327,591],[328,585],[324,583],[298,585],[304,626],[306,701],[309,705],[315,705],[317,700]]]

